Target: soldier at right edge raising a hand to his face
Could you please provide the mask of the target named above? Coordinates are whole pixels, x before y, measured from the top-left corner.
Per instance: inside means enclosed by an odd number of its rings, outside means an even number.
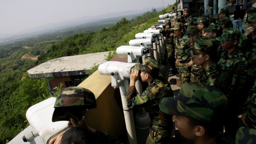
[[[248,28],[240,37],[239,47],[249,61],[248,85],[251,88],[256,79],[256,13],[251,14],[247,22]]]

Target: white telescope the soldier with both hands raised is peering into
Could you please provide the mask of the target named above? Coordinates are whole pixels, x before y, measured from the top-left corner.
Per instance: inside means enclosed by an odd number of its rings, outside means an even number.
[[[120,87],[125,78],[130,78],[130,72],[136,63],[125,63],[119,61],[106,61],[99,66],[101,75],[112,76],[111,86]]]

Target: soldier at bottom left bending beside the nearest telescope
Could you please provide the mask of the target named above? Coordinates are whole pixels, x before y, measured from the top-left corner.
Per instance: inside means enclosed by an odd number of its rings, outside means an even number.
[[[58,137],[50,140],[50,144],[81,144],[82,142],[92,142],[100,144],[123,144],[111,135],[92,129],[88,126],[84,114],[86,109],[96,108],[94,94],[83,87],[66,87],[56,99],[55,110],[52,114],[52,121],[67,120],[68,125],[73,125]],[[78,135],[71,135],[76,133]]]

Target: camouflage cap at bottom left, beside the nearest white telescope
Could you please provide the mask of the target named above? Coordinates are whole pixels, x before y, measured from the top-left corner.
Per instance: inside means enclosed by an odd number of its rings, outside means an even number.
[[[52,122],[74,118],[77,122],[83,118],[87,109],[96,108],[94,94],[83,87],[67,87],[62,90],[54,104]]]

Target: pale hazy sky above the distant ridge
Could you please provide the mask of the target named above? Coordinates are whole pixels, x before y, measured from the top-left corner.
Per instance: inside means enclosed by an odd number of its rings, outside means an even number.
[[[0,34],[108,12],[167,7],[176,0],[0,0]]]

